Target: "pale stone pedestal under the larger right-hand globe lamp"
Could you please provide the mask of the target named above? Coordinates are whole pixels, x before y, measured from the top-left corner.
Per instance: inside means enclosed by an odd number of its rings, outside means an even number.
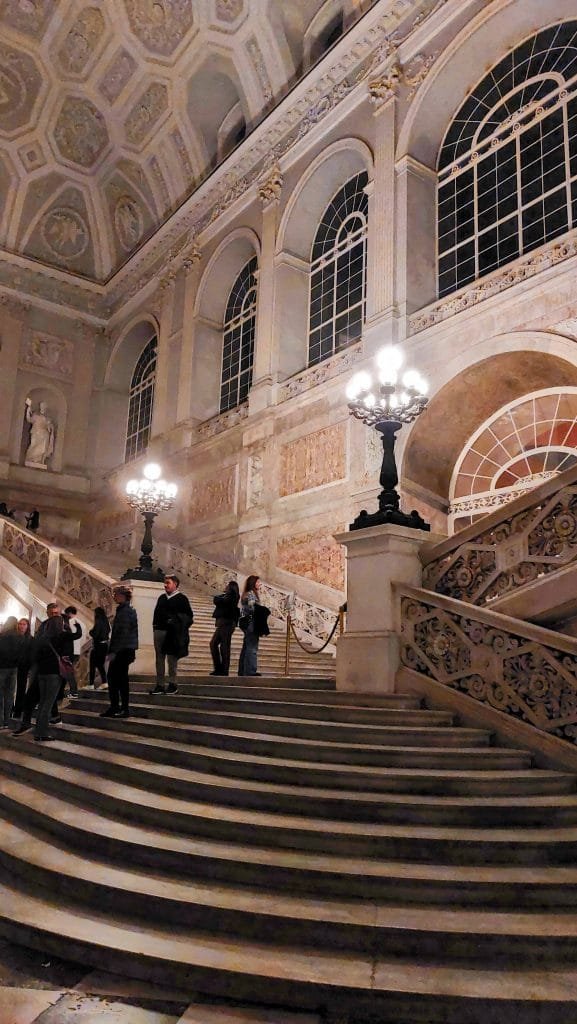
[[[372,526],[335,535],[346,548],[346,632],[336,652],[336,688],[391,693],[399,668],[394,583],[421,585],[419,549],[430,535]]]

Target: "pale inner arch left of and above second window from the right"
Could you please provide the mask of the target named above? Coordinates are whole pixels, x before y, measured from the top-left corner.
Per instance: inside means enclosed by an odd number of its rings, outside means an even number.
[[[338,189],[362,171],[370,181],[373,155],[367,143],[339,139],[313,161],[287,203],[279,226],[275,290],[282,380],[307,364],[311,253],[319,223]]]

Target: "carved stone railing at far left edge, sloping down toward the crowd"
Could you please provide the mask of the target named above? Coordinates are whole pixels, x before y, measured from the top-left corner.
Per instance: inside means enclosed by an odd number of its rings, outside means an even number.
[[[111,588],[114,581],[111,577],[75,558],[70,551],[57,548],[2,517],[0,553],[33,577],[40,577],[51,594],[59,594],[68,603],[80,604],[87,609],[100,605],[109,614],[112,613]]]

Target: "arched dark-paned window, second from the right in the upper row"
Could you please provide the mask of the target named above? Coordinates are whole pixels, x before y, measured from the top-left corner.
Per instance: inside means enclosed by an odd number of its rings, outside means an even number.
[[[313,243],[308,313],[308,366],[358,341],[365,318],[366,171],[331,200]]]

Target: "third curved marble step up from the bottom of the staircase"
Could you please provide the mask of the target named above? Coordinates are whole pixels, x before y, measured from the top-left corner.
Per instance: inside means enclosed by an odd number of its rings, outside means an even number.
[[[258,888],[265,877],[267,889],[379,898],[398,904],[432,901],[517,909],[577,906],[575,865],[419,863],[352,857],[332,849],[317,853],[192,840],[124,822],[13,780],[2,785],[0,813],[88,860],[97,858],[121,867],[130,864],[189,883],[218,880]]]

